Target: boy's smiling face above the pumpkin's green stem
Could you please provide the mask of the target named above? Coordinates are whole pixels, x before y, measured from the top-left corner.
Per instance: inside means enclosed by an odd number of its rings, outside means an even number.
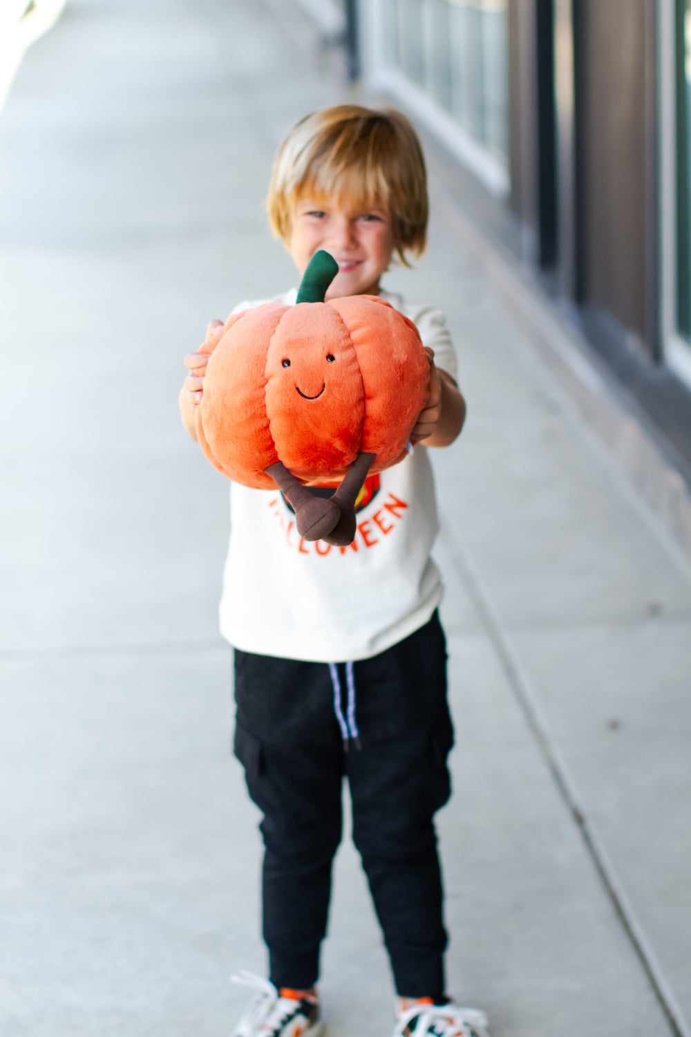
[[[333,196],[301,198],[295,205],[288,243],[300,277],[319,249],[330,253],[339,264],[326,299],[378,295],[379,278],[394,251],[388,213]]]

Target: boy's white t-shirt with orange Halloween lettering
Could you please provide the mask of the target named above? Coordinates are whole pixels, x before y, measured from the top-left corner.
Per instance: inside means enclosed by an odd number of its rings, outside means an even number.
[[[293,305],[293,288],[261,302]],[[438,367],[456,377],[439,310],[381,298],[409,317]],[[261,305],[242,303],[234,313]],[[423,626],[438,606],[441,578],[431,550],[438,532],[427,448],[369,476],[352,544],[300,539],[280,491],[231,483],[231,533],[220,606],[221,633],[261,655],[341,663],[384,651]]]

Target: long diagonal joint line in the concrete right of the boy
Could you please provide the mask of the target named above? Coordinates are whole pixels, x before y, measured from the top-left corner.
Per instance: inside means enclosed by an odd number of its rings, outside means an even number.
[[[442,533],[442,536],[444,536],[444,533]],[[474,606],[480,621],[494,648],[525,722],[552,775],[559,794],[578,826],[588,856],[614,907],[614,912],[636,952],[653,992],[669,1024],[669,1029],[674,1037],[691,1037],[691,1029],[684,1018],[680,1006],[676,1004],[674,994],[669,988],[655,951],[638,921],[633,905],[609,859],[609,854],[600,836],[595,831],[592,821],[588,820],[575,780],[549,732],[530,682],[522,672],[520,663],[503,636],[490,601],[468,558],[459,549],[456,541],[451,543],[449,536],[444,538],[447,539],[447,544],[450,549],[449,553],[453,558],[457,574]]]

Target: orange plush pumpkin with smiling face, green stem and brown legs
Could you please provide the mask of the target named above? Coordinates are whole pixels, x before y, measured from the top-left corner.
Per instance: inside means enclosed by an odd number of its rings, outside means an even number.
[[[350,543],[368,472],[401,460],[429,395],[418,329],[375,296],[324,302],[338,273],[319,251],[294,306],[266,303],[229,317],[210,353],[197,437],[220,472],[280,487],[306,540]],[[339,483],[330,498],[306,483]]]

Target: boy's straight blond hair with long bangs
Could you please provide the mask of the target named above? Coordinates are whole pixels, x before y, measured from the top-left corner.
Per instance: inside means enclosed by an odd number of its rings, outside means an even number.
[[[421,256],[427,245],[427,173],[412,123],[395,109],[336,105],[306,115],[279,145],[266,199],[273,233],[288,244],[295,205],[306,196],[347,197],[383,207],[394,247]]]

